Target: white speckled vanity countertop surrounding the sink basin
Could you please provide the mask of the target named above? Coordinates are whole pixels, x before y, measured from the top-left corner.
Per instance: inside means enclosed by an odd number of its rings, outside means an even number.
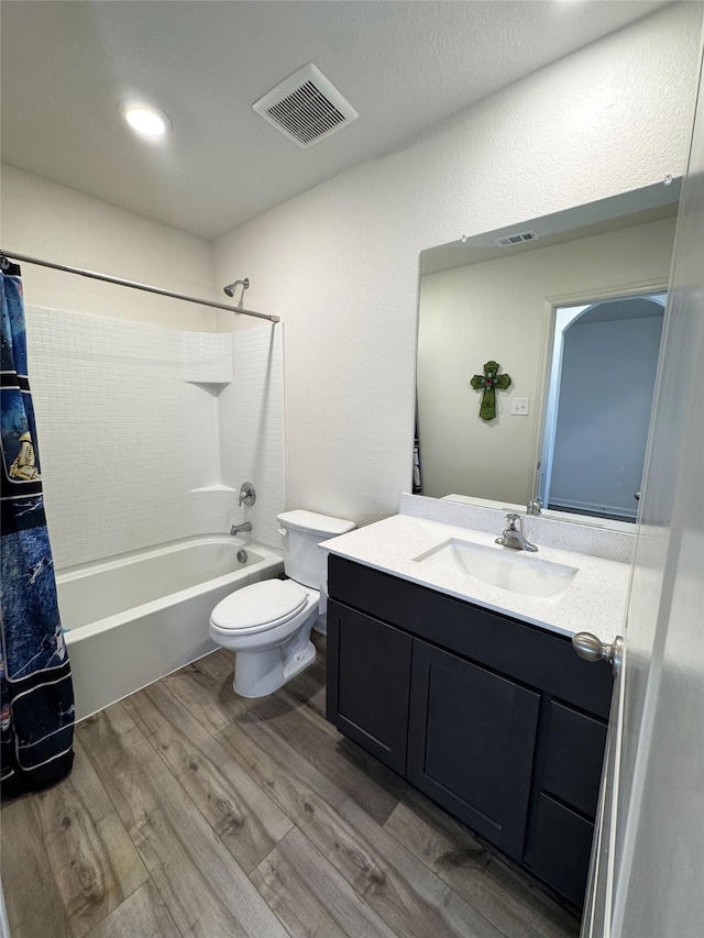
[[[622,631],[626,611],[631,570],[629,563],[542,545],[539,530],[536,530],[531,532],[530,539],[538,545],[538,553],[512,551],[512,554],[578,569],[565,593],[543,599],[492,586],[451,565],[431,569],[432,565],[424,566],[414,561],[414,558],[451,538],[505,552],[510,549],[495,543],[501,530],[498,528],[490,533],[413,515],[394,515],[323,541],[321,547],[338,556],[466,599],[486,609],[505,613],[550,631],[570,637],[588,631],[602,641],[614,640]]]

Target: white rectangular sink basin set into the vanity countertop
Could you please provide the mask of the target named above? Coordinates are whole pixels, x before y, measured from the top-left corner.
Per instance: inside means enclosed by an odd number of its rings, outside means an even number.
[[[522,551],[476,544],[459,538],[436,544],[413,560],[428,573],[459,570],[490,586],[539,599],[562,595],[578,572],[576,566],[565,566],[530,556]]]

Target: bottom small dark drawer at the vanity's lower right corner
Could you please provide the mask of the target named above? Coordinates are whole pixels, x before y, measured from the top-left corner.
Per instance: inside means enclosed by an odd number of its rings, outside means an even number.
[[[579,908],[584,902],[594,825],[549,795],[538,801],[526,863]]]

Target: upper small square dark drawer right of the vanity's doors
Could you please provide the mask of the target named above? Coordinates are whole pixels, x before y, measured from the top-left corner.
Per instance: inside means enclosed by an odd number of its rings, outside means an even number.
[[[594,818],[605,746],[605,722],[551,700],[542,791]]]

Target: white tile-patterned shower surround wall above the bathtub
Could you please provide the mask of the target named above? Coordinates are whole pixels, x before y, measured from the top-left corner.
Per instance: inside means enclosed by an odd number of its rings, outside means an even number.
[[[283,328],[182,332],[28,307],[57,569],[252,521],[278,547]],[[254,483],[257,501],[239,508]],[[246,511],[246,515],[244,512]]]

